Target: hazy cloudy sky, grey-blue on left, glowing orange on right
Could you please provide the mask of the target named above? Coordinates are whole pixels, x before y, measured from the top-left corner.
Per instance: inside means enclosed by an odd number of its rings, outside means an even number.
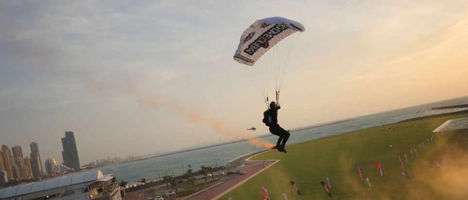
[[[61,162],[73,131],[85,165],[268,133],[232,56],[275,16],[306,27],[286,129],[468,95],[466,0],[0,0],[0,143]]]

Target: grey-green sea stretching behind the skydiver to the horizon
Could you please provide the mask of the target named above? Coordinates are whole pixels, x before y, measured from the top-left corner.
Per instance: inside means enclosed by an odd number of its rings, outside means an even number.
[[[443,110],[431,109],[433,107],[460,102],[468,102],[468,96],[321,124],[321,126],[318,125],[319,127],[291,132],[288,144],[295,144],[317,138],[392,124],[416,117],[468,110],[468,108]],[[261,139],[268,140],[275,144],[277,136],[272,135]],[[129,184],[137,184],[141,177],[150,181],[157,180],[159,177],[166,175],[166,173],[168,175],[179,176],[183,174],[183,171],[186,171],[189,168],[188,165],[190,165],[194,171],[198,171],[201,165],[210,167],[224,166],[236,157],[260,150],[265,149],[252,147],[249,142],[243,141],[206,149],[153,157],[119,165],[101,167],[94,170],[101,170],[104,174],[114,174],[114,177],[116,177],[119,182],[125,181]]]

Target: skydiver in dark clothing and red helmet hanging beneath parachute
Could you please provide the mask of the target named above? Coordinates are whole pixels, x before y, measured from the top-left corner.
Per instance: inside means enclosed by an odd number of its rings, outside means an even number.
[[[279,106],[275,101],[272,101],[270,103],[270,109],[268,109],[267,111],[263,113],[263,117],[264,117],[263,122],[265,123],[265,125],[270,127],[270,133],[279,136],[276,146],[273,147],[272,149],[277,149],[280,152],[286,153],[284,146],[286,145],[286,142],[288,141],[289,136],[291,134],[289,133],[289,130],[288,131],[284,130],[278,124],[278,110],[279,109],[281,109],[281,106]],[[265,121],[265,117],[267,121]]]

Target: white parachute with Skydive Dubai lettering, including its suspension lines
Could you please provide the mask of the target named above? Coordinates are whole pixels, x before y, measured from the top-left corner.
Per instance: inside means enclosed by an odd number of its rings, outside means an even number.
[[[304,26],[299,22],[283,17],[269,17],[255,21],[241,35],[234,61],[243,64],[241,66],[267,107],[270,81],[276,83],[278,101],[289,55],[300,36],[298,33],[304,31]]]

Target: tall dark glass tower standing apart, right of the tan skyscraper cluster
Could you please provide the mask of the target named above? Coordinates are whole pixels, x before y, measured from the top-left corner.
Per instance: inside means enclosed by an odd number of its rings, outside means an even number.
[[[75,133],[71,131],[65,132],[65,137],[62,138],[62,157],[66,166],[73,168],[75,171],[81,169],[80,158],[76,148]]]

